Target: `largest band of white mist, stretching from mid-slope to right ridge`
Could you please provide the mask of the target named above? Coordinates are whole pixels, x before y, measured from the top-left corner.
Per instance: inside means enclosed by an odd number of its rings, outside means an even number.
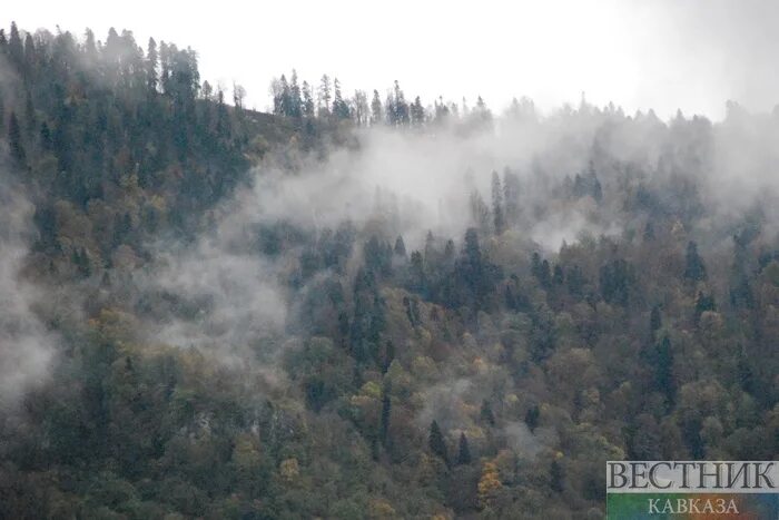
[[[325,161],[292,154],[294,171],[266,160],[250,173],[249,186],[210,215],[213,228],[194,244],[157,246],[158,259],[142,267],[145,290],[199,302],[199,314],[166,318],[148,328],[149,337],[216,347],[227,362],[239,364],[250,350],[277,344],[295,320],[289,314],[295,294],[286,284],[302,252],[264,256],[258,226],[288,223],[321,233],[351,222],[358,233],[352,276],[372,234],[391,243],[402,235],[408,249],[418,249],[432,230],[438,238],[453,238],[458,249],[465,229],[474,225],[471,193],[481,193],[490,205],[492,171],[502,176],[505,166],[520,178],[521,224],[502,242],[520,256],[532,251],[555,255],[563,243],[582,236],[619,237],[643,226],[632,222],[640,215],[623,210],[623,195],[617,192],[625,165],[638,171],[634,185],[669,190],[667,183],[678,175],[697,184],[707,218],[690,233],[719,234],[702,247],[728,243],[728,226],[779,187],[779,153],[772,145],[779,141],[779,119],[747,115],[736,106],[716,125],[700,118],[668,124],[653,115],[624,118],[583,105],[548,118],[497,119],[495,130],[373,129],[358,131],[356,139],[359,146],[333,149]],[[288,150],[284,157],[287,164]],[[565,177],[585,173],[591,161],[603,186],[601,204],[591,197],[554,197]],[[772,207],[765,207],[767,223],[779,222]]]

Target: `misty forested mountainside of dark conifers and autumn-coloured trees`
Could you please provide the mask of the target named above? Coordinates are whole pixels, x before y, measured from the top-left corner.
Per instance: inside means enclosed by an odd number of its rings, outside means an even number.
[[[0,30],[0,518],[600,519],[607,460],[777,458],[779,111],[385,94]]]

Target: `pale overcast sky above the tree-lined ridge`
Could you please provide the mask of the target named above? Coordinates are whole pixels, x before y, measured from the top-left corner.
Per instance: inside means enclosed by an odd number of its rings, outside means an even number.
[[[273,77],[338,77],[344,90],[385,97],[400,80],[426,104],[493,110],[527,96],[544,111],[582,98],[628,112],[681,109],[719,119],[727,100],[779,104],[779,2],[769,0],[543,0],[227,3],[42,0],[3,10],[4,24],[105,39],[110,27],[191,47],[201,77],[244,86],[267,109]]]

